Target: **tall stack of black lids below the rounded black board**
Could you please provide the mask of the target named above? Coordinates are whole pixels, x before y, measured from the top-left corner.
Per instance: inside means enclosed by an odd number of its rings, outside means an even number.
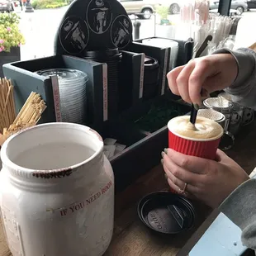
[[[107,64],[107,106],[109,119],[114,118],[118,113],[118,76],[121,56],[121,52],[118,49],[88,50],[84,52],[84,59]]]

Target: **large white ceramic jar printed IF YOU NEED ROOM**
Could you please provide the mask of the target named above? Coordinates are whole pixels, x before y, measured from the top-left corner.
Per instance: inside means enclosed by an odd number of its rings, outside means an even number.
[[[111,241],[114,177],[102,137],[50,123],[1,149],[0,204],[13,256],[102,255]]]

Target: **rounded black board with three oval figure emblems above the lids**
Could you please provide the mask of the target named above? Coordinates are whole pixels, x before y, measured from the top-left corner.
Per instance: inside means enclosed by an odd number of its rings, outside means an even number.
[[[55,54],[83,57],[84,50],[123,49],[132,40],[132,23],[116,0],[76,0],[55,36]]]

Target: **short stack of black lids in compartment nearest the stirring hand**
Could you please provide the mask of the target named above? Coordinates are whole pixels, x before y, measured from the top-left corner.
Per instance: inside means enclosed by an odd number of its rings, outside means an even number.
[[[143,99],[149,100],[157,97],[159,91],[159,61],[145,56]]]

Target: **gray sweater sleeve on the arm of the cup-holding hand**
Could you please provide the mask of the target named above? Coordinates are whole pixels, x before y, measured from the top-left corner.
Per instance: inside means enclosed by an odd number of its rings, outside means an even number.
[[[242,230],[244,246],[256,251],[256,179],[237,187],[222,202],[220,211]]]

